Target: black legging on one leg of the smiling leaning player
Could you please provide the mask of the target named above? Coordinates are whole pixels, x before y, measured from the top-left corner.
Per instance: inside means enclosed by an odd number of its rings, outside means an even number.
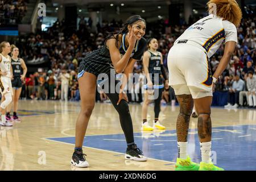
[[[119,81],[115,80],[115,85],[118,84]],[[110,85],[110,81],[109,81]],[[113,86],[113,85],[112,85]],[[121,127],[123,130],[123,133],[125,133],[125,138],[127,145],[134,144],[134,136],[133,136],[133,122],[131,121],[131,115],[129,111],[129,106],[125,100],[122,100],[119,105],[117,105],[117,102],[119,100],[119,89],[115,93],[110,93],[110,87],[109,86],[109,93],[106,93],[106,95],[109,97],[110,101],[112,102],[113,106],[115,107],[115,110],[117,110],[119,114],[119,119],[121,123]],[[112,87],[113,88],[113,87]],[[115,87],[114,87],[115,88]]]

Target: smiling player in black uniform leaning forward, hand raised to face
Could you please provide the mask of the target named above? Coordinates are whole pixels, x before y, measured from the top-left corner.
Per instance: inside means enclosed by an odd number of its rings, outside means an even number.
[[[107,82],[109,85],[106,95],[119,114],[121,127],[126,138],[127,150],[125,159],[147,160],[134,142],[133,122],[127,104],[127,96],[123,93],[127,80],[129,80],[129,74],[133,73],[135,61],[141,60],[144,49],[147,46],[146,39],[143,38],[145,31],[145,20],[139,15],[130,16],[120,31],[107,36],[102,48],[89,53],[81,61],[77,76],[81,96],[81,111],[76,122],[76,144],[71,160],[73,166],[89,166],[85,159],[85,154],[82,153],[82,145],[95,104],[97,82],[101,82],[101,84],[102,82]],[[97,81],[98,75],[106,73],[110,77],[110,73],[113,73],[112,71],[125,75],[119,90],[114,90],[114,93],[111,92],[110,88],[112,88],[112,85],[115,88],[119,81],[112,82],[110,78]]]

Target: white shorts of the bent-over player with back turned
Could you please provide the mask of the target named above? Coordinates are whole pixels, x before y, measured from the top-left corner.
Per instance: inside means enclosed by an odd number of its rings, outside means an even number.
[[[168,69],[169,85],[176,95],[212,96],[212,73],[203,48],[188,43],[175,44],[168,53]]]

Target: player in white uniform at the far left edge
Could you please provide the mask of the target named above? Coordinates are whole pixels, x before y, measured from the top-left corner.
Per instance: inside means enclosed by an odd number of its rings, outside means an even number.
[[[8,55],[11,52],[9,42],[0,44],[0,91],[2,100],[0,105],[1,122],[0,126],[13,126],[12,123],[6,121],[6,107],[11,103],[13,96],[13,88],[11,86],[12,70],[11,57]]]

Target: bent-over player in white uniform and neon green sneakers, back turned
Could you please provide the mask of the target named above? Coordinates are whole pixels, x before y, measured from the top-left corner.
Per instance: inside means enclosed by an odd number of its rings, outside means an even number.
[[[237,44],[237,28],[242,13],[235,0],[210,0],[208,16],[192,24],[175,41],[168,53],[169,84],[174,88],[180,105],[176,133],[178,158],[176,170],[222,171],[210,160],[212,149],[212,121],[210,106],[214,83],[227,67]],[[212,75],[209,58],[225,39],[220,63]],[[201,163],[196,164],[187,155],[189,119],[195,102],[199,115],[197,130],[200,139]]]

